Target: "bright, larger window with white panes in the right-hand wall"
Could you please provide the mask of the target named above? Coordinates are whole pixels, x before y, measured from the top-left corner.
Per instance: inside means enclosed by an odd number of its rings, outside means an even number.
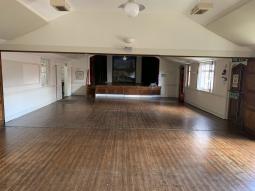
[[[214,68],[213,61],[202,62],[199,64],[197,89],[206,92],[212,92],[214,81]]]

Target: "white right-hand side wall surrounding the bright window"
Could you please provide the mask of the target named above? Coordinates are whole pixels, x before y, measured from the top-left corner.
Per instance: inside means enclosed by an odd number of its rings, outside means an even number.
[[[227,119],[231,60],[218,59],[215,61],[214,87],[212,93],[197,90],[198,67],[198,63],[191,64],[191,82],[190,87],[185,88],[185,102],[222,119]],[[221,78],[222,71],[225,68],[227,68],[228,72],[228,81],[226,82]]]

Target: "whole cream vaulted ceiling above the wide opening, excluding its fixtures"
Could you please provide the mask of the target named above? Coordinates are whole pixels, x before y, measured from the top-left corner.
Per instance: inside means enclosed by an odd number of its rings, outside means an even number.
[[[201,16],[190,15],[198,0],[137,0],[146,11],[134,19],[117,8],[125,0],[69,1],[70,13],[49,0],[0,1],[0,48],[125,53],[125,37],[136,39],[137,54],[250,56],[242,46],[255,47],[253,0],[210,0],[214,8]]]

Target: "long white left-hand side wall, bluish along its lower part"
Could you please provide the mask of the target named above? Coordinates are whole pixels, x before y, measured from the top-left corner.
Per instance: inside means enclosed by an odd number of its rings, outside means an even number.
[[[49,59],[49,84],[40,83],[41,58]],[[53,54],[2,53],[5,120],[10,121],[58,99]]]

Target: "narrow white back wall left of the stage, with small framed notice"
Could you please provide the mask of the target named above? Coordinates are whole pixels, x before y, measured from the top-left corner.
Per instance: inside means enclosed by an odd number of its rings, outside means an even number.
[[[72,95],[86,95],[86,78],[89,70],[89,55],[81,55],[79,58],[73,59],[69,62],[71,67],[71,94]],[[83,80],[76,79],[76,72],[84,72]]]

